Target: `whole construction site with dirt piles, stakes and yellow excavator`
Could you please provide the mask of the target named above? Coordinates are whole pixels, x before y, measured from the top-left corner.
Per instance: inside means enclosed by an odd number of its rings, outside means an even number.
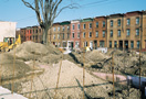
[[[146,54],[140,51],[65,53],[53,44],[21,44],[20,36],[2,40],[1,99],[146,99]]]

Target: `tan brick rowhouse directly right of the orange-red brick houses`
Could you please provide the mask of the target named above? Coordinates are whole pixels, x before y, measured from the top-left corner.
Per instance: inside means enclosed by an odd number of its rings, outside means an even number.
[[[107,16],[107,47],[124,47],[124,14],[111,14]]]

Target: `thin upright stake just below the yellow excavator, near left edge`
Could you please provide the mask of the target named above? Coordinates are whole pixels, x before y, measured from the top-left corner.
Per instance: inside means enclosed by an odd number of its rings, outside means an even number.
[[[12,94],[13,94],[13,90],[14,90],[14,74],[15,72],[15,45],[14,45],[14,48],[13,48],[13,74],[12,74],[12,86],[11,86],[11,89],[12,89]]]

